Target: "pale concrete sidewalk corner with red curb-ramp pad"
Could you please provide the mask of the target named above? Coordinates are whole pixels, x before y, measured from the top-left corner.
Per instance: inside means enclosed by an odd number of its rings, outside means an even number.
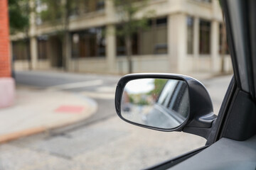
[[[90,98],[18,86],[16,101],[0,109],[0,143],[85,120],[97,110]]]

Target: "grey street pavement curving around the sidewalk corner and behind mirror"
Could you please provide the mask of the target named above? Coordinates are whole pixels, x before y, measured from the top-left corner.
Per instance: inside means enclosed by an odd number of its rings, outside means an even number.
[[[18,85],[89,97],[97,103],[97,111],[74,125],[0,145],[0,169],[143,169],[205,145],[206,140],[196,135],[159,132],[120,120],[114,111],[118,79],[97,74],[17,72]],[[216,114],[230,79],[201,79]]]

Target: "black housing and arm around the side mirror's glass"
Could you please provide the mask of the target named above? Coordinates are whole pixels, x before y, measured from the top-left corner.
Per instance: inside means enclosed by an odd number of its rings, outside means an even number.
[[[121,101],[124,87],[129,81],[135,79],[176,79],[185,81],[188,85],[188,96],[190,101],[190,111],[188,119],[180,126],[174,129],[166,130],[161,128],[153,128],[138,123],[131,122],[122,118],[121,115]],[[207,138],[213,121],[216,119],[216,115],[213,114],[213,104],[206,90],[206,87],[201,84],[200,81],[181,74],[127,74],[122,77],[118,84],[115,93],[115,108],[119,117],[133,125],[139,125],[144,128],[150,128],[161,131],[181,131],[189,132],[195,135],[200,135]]]

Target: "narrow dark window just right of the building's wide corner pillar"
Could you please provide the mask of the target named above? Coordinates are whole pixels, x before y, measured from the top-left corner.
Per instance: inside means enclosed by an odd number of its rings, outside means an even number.
[[[193,54],[193,17],[187,17],[187,52]]]

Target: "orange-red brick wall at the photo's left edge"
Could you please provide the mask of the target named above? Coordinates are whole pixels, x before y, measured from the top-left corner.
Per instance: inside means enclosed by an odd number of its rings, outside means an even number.
[[[11,76],[7,0],[0,0],[0,77]]]

